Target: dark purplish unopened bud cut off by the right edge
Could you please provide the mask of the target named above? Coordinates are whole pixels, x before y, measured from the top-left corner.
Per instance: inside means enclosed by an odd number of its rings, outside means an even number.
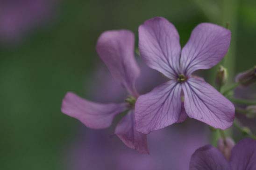
[[[242,86],[249,86],[250,84],[256,82],[256,66],[238,74],[235,77],[235,82],[239,82]]]

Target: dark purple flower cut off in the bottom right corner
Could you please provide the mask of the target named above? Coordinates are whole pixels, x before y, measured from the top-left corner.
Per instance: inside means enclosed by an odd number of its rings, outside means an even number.
[[[256,170],[256,141],[243,139],[237,143],[230,161],[211,145],[201,147],[191,157],[190,170]]]

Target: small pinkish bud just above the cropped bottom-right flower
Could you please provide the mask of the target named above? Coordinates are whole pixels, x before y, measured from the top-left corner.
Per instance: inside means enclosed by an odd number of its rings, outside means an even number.
[[[225,139],[220,138],[217,143],[217,148],[220,152],[225,156],[227,160],[229,160],[231,156],[231,150],[235,146],[235,142],[230,137]]]

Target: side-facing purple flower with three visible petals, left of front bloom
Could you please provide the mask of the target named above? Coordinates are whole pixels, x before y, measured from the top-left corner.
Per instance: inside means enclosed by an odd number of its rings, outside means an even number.
[[[68,92],[62,103],[62,112],[77,118],[92,129],[105,129],[112,124],[114,116],[128,110],[115,128],[115,134],[128,147],[148,153],[147,137],[135,130],[134,103],[138,97],[135,80],[140,70],[134,57],[134,34],[128,30],[107,31],[100,35],[97,52],[107,65],[114,79],[126,88],[131,97],[121,103],[90,102]],[[124,100],[123,100],[124,101]]]

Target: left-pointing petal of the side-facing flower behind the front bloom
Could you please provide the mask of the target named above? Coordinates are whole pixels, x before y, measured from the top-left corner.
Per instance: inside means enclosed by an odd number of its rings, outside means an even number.
[[[62,102],[61,111],[78,119],[92,129],[104,129],[111,125],[114,116],[127,109],[126,103],[101,104],[87,101],[68,92]]]

